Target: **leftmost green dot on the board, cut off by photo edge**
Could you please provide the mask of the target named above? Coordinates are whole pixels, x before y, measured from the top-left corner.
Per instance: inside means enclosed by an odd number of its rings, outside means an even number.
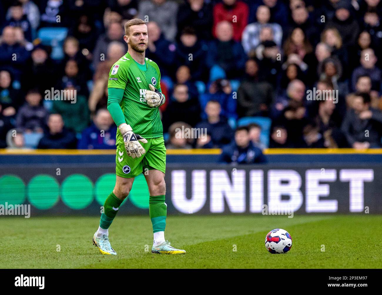
[[[0,177],[0,204],[5,206],[23,204],[25,201],[25,185],[16,175]]]

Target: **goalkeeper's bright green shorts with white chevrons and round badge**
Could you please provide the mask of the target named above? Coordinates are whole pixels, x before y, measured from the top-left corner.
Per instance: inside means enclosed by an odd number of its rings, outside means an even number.
[[[146,139],[147,143],[141,143],[146,153],[134,159],[127,156],[124,143],[117,144],[115,173],[118,176],[132,178],[152,169],[166,173],[166,148],[163,136]]]

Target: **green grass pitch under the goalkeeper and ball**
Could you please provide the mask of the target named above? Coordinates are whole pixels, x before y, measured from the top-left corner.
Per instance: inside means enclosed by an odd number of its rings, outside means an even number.
[[[0,266],[382,268],[382,222],[377,215],[169,216],[165,237],[185,249],[184,255],[151,254],[148,216],[117,216],[110,242],[118,255],[101,255],[91,242],[98,223],[99,217],[2,217]],[[265,249],[265,235],[274,228],[291,234],[288,253],[270,254]]]

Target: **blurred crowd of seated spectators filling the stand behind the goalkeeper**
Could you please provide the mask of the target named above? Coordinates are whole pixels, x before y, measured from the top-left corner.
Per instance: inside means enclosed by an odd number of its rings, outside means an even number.
[[[108,73],[134,17],[161,71],[168,148],[251,162],[248,149],[381,147],[381,0],[2,0],[0,148],[115,148]],[[65,28],[61,45],[47,28]],[[52,88],[76,103],[47,100]]]

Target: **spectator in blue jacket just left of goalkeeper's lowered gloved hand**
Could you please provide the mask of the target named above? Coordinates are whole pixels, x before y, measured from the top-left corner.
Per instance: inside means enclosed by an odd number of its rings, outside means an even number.
[[[115,149],[115,126],[107,109],[99,109],[95,114],[93,124],[87,127],[78,142],[79,149]]]

